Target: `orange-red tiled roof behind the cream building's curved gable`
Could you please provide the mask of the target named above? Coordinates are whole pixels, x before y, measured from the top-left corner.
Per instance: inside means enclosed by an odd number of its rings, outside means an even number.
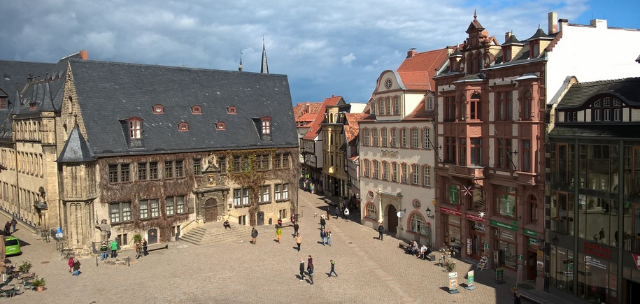
[[[446,48],[416,53],[402,61],[397,73],[406,89],[434,91],[435,82],[432,77],[436,73],[435,70],[446,62],[447,57]]]

